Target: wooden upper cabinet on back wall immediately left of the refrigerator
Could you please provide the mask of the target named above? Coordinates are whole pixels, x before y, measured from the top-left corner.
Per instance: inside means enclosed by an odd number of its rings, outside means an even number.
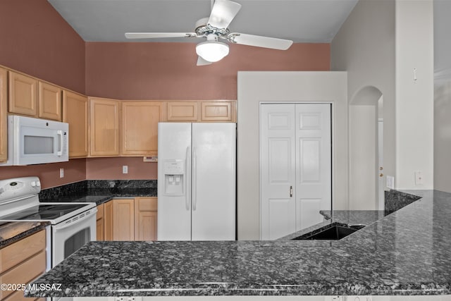
[[[163,120],[163,103],[123,101],[121,155],[147,156],[158,152],[158,123]]]

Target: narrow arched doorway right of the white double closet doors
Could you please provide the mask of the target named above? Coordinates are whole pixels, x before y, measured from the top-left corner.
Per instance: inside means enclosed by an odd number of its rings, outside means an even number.
[[[349,106],[349,209],[383,209],[383,94],[366,86]]]

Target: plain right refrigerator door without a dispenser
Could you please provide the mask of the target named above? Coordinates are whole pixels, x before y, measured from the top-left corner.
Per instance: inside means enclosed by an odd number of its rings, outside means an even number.
[[[235,123],[192,124],[192,240],[235,240]]]

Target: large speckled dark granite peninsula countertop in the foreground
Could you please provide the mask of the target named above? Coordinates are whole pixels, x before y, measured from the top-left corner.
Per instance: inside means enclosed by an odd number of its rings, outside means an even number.
[[[34,282],[61,290],[25,295],[451,294],[451,194],[411,193],[386,216],[333,212],[368,224],[342,240],[89,242]]]

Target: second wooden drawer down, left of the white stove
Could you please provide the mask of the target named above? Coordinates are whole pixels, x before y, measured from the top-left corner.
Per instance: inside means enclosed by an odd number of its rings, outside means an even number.
[[[31,257],[27,261],[19,264],[14,269],[11,269],[0,276],[0,283],[23,283],[27,284],[37,276],[41,275],[45,271],[45,251],[42,251],[35,256]],[[4,290],[0,291],[0,299],[16,293],[16,290]],[[23,293],[23,292],[19,292]],[[11,299],[16,300],[16,299]]]

